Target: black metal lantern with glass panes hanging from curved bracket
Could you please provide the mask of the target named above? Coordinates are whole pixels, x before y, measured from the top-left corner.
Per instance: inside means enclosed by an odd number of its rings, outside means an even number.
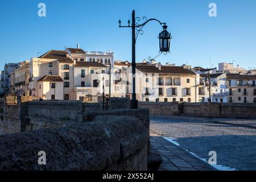
[[[164,24],[163,31],[159,34],[159,52],[170,52],[171,34],[167,31],[167,26]]]

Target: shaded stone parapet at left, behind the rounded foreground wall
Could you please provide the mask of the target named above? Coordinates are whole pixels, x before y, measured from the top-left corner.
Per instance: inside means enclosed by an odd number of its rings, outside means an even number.
[[[83,122],[91,111],[100,111],[100,103],[79,101],[30,101],[4,104],[0,134],[19,133]]]

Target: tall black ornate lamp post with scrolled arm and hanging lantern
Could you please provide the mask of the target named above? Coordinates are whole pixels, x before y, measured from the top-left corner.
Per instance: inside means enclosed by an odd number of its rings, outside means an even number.
[[[160,53],[168,53],[170,52],[170,42],[171,42],[171,34],[167,31],[166,23],[160,22],[158,19],[148,19],[144,16],[142,18],[145,20],[144,23],[140,24],[138,23],[141,21],[141,18],[137,17],[135,18],[135,10],[133,10],[133,13],[131,15],[131,22],[128,20],[128,26],[121,26],[121,20],[119,20],[119,27],[128,27],[131,28],[131,39],[132,39],[132,46],[131,46],[131,73],[133,75],[133,93],[132,93],[132,100],[130,101],[130,107],[131,109],[137,109],[138,108],[138,100],[136,100],[136,93],[135,93],[135,72],[136,72],[136,58],[135,58],[135,44],[138,38],[138,35],[143,35],[143,27],[150,22],[151,20],[155,20],[156,22],[160,23],[160,25],[163,25],[163,31],[159,34],[159,48]],[[137,20],[137,22],[136,22]],[[131,25],[130,25],[131,23]]]

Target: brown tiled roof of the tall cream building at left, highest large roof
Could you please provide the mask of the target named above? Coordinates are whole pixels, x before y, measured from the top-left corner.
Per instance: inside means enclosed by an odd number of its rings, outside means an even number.
[[[66,56],[65,51],[59,50],[51,50],[44,55],[40,56],[39,58],[46,58],[46,59],[56,59],[60,63],[73,63],[72,59]]]

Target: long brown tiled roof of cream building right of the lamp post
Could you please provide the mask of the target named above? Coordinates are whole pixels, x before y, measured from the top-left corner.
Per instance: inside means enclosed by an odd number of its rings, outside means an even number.
[[[189,71],[188,69],[184,69],[183,67],[161,66],[161,70],[159,70],[155,65],[138,65],[136,68],[143,73],[174,73],[196,75],[196,73]]]

